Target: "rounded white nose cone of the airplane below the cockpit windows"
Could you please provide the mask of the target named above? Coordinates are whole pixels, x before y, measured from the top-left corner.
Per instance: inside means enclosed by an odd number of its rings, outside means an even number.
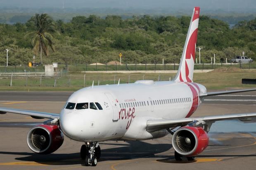
[[[59,116],[62,132],[67,137],[78,140],[79,134],[81,133],[79,120],[78,114],[63,109]]]

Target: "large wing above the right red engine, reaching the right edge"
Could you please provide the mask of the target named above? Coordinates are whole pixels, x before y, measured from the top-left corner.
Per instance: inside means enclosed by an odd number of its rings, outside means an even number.
[[[243,114],[227,114],[220,116],[206,116],[206,117],[190,117],[190,118],[182,118],[182,119],[158,119],[158,120],[148,120],[147,121],[147,131],[154,132],[156,130],[173,128],[177,126],[186,126],[188,123],[193,121],[205,121],[212,122],[222,121],[228,119],[243,119],[256,117],[256,113],[243,113]]]

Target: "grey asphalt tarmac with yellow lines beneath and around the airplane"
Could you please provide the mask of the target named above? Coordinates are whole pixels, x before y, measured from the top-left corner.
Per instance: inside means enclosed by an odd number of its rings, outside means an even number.
[[[59,113],[71,93],[0,92],[0,107]],[[205,98],[193,116],[255,112],[256,92]],[[255,96],[254,96],[255,95]],[[209,99],[209,100],[206,100]],[[174,160],[171,135],[145,141],[100,142],[102,157],[97,167],[85,167],[79,151],[83,144],[65,137],[53,154],[34,154],[26,144],[28,131],[46,119],[18,114],[0,115],[0,169],[2,170],[155,170],[155,169],[232,169],[256,167],[256,123],[219,121],[209,133],[210,143],[195,161]],[[255,119],[253,120],[255,122]]]

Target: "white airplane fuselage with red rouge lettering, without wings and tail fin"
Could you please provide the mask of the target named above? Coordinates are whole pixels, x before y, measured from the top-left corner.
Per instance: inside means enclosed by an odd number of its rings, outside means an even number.
[[[195,83],[140,80],[82,88],[67,103],[99,103],[102,109],[66,109],[60,114],[65,135],[77,141],[146,140],[163,137],[166,130],[149,133],[150,119],[179,119],[191,116],[200,105],[206,88]]]

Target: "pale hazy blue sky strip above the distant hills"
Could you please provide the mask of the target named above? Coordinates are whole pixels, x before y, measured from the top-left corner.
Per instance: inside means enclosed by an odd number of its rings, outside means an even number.
[[[199,6],[206,10],[244,11],[256,9],[256,0],[0,0],[3,7],[22,8],[135,8],[190,9]]]

